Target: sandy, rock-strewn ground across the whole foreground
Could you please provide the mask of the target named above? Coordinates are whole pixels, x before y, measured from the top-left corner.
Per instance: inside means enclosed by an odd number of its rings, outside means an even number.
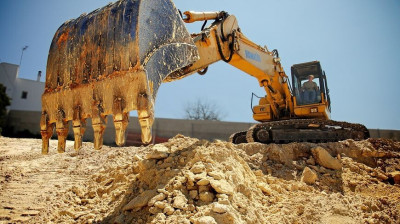
[[[50,144],[0,137],[0,223],[400,223],[399,142]]]

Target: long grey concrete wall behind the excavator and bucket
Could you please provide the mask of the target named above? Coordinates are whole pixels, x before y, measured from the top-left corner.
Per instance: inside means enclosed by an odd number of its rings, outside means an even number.
[[[14,132],[23,131],[26,129],[31,133],[39,135],[40,114],[40,112],[33,111],[10,111],[8,119],[9,125],[14,127]],[[108,125],[104,134],[104,143],[114,144],[115,131],[112,116],[108,116],[107,124]],[[157,118],[153,125],[153,135],[154,139],[156,139],[156,137],[168,139],[177,134],[183,134],[185,136],[191,136],[199,139],[228,140],[232,133],[247,130],[249,127],[251,127],[251,125],[252,123]],[[71,127],[69,133],[72,139],[73,132]],[[138,138],[133,139],[133,142],[140,141],[139,134],[140,126],[138,119],[136,117],[130,117],[127,128],[127,141],[129,141],[129,138]],[[370,134],[372,138],[389,138],[400,141],[400,130],[370,129]],[[92,139],[93,129],[91,128],[91,119],[88,119],[84,141],[92,141]]]

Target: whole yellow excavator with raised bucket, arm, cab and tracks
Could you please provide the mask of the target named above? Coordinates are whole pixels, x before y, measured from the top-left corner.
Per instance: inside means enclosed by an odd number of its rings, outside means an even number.
[[[201,32],[189,34],[185,23],[197,21],[203,22]],[[208,27],[207,21],[212,22]],[[142,142],[149,143],[161,83],[205,74],[221,60],[256,78],[266,92],[252,107],[260,123],[232,134],[231,142],[369,137],[363,125],[330,120],[320,62],[293,65],[290,85],[278,51],[246,38],[235,16],[224,11],[182,14],[170,0],[120,0],[65,22],[54,35],[42,95],[42,153],[48,153],[54,127],[58,152],[65,151],[69,121],[79,149],[87,118],[92,119],[94,148],[100,149],[107,115],[113,115],[116,144],[124,145],[132,110],[138,113]]]

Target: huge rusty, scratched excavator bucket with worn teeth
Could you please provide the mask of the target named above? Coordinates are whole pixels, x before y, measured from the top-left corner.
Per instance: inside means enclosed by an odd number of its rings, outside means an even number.
[[[87,118],[100,149],[107,115],[113,115],[116,144],[124,145],[132,110],[149,143],[160,84],[196,60],[197,48],[170,0],[121,0],[65,22],[47,61],[42,153],[48,153],[54,128],[58,151],[65,151],[69,121],[79,149]]]

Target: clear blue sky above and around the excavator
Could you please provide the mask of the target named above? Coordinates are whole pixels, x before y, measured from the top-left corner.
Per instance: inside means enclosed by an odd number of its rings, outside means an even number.
[[[20,77],[46,71],[51,40],[68,19],[109,0],[0,1],[0,61],[19,64]],[[328,76],[332,119],[368,128],[400,129],[400,1],[398,0],[175,0],[182,11],[224,10],[242,32],[278,49],[286,73],[292,64],[319,60]],[[190,32],[201,23],[188,25]],[[205,76],[161,85],[156,117],[183,118],[184,106],[202,98],[218,105],[224,120],[253,122],[250,97],[264,91],[251,76],[219,62]]]

